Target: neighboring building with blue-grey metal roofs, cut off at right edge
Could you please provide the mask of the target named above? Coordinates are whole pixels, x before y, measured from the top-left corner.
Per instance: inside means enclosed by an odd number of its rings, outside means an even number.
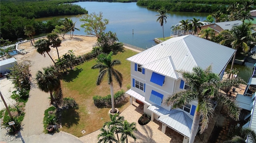
[[[255,103],[255,92],[256,92],[256,64],[252,77],[249,78],[244,94],[236,95],[236,103],[242,109],[239,120],[246,121],[242,127],[254,130],[256,132],[256,103]],[[246,143],[251,143],[247,140]]]

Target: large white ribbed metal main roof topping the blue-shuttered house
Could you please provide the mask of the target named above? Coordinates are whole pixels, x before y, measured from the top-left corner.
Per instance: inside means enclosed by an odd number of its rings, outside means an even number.
[[[177,70],[192,71],[195,66],[205,69],[212,65],[212,72],[220,74],[234,52],[232,48],[197,36],[186,35],[166,40],[127,60],[148,70],[178,79]]]

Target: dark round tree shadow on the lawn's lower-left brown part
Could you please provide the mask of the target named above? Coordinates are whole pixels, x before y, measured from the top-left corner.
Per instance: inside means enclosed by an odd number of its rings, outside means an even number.
[[[64,109],[62,111],[62,116],[61,116],[61,123],[62,126],[65,127],[72,127],[72,125],[77,125],[78,121],[80,121],[80,115],[76,111],[76,109]]]

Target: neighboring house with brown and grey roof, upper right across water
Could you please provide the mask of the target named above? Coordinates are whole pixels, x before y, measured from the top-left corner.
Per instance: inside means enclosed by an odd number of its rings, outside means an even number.
[[[223,30],[231,30],[233,26],[238,26],[238,25],[241,25],[242,23],[243,22],[241,20],[228,21],[228,22],[216,22],[216,23],[201,26],[201,30],[207,29],[208,27],[210,27],[214,30],[215,35],[218,35]],[[198,28],[197,32],[199,33],[201,30]]]

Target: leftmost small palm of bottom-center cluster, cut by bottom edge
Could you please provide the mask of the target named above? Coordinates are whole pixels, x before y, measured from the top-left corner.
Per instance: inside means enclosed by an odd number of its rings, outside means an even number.
[[[102,132],[97,136],[98,143],[118,143],[113,130],[106,130],[104,128],[101,128],[100,131]]]

